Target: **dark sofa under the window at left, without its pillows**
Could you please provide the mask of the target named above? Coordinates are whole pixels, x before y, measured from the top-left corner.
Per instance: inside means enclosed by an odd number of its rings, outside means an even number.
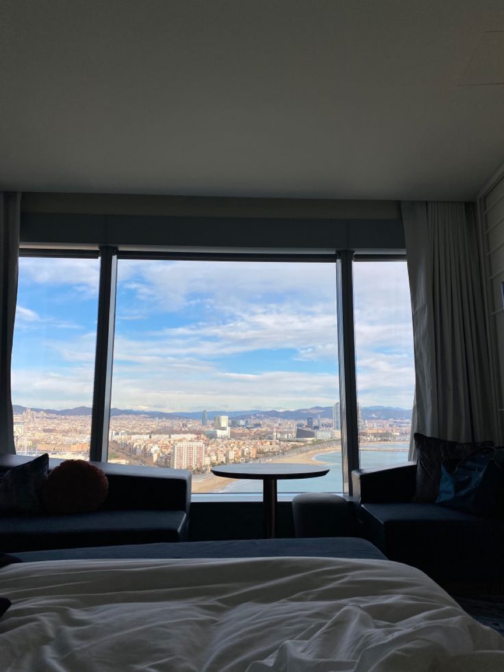
[[[33,457],[0,455],[0,477]],[[49,472],[62,460],[49,460]],[[191,473],[183,469],[92,462],[108,478],[96,511],[77,514],[0,512],[0,551],[34,551],[186,540]]]

